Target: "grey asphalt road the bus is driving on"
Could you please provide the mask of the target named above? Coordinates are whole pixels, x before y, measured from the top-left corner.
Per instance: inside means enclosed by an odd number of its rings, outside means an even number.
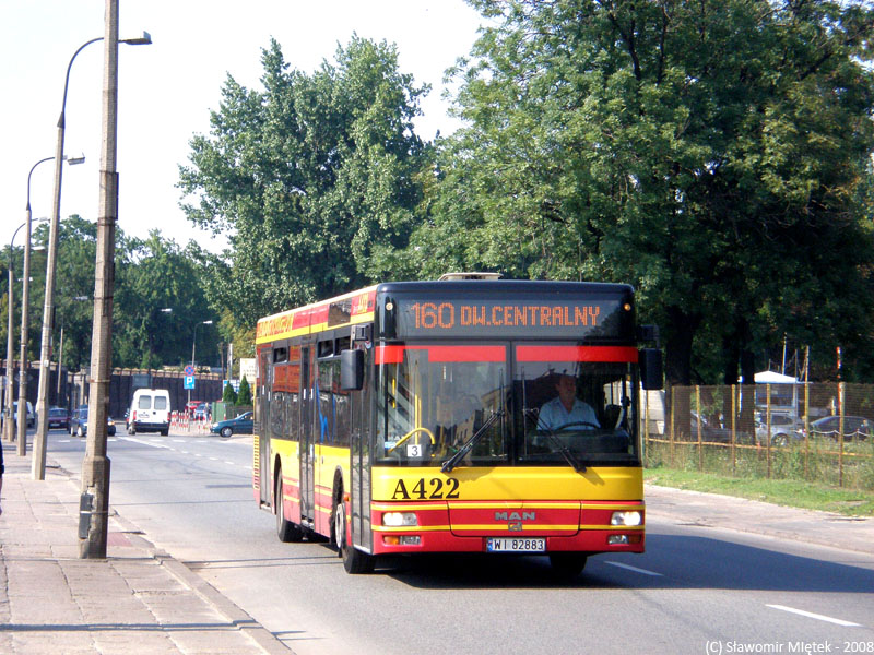
[[[74,476],[84,441],[50,432]],[[109,502],[298,655],[874,653],[874,558],[651,519],[647,553],[429,558],[343,571],[321,543],[281,544],[251,490],[251,438],[110,438]]]

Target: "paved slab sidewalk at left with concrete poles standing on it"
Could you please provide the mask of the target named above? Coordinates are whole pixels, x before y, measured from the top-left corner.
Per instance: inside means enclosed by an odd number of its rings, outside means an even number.
[[[292,653],[111,508],[107,559],[79,559],[78,485],[51,462],[32,480],[3,446],[0,653]]]

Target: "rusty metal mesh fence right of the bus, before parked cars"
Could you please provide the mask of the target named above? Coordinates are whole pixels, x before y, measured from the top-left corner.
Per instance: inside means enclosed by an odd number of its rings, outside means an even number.
[[[673,386],[641,404],[647,466],[874,488],[874,385]]]

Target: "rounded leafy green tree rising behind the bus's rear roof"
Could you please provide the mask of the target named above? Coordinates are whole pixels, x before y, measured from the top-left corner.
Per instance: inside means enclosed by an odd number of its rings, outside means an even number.
[[[393,46],[354,36],[307,75],[263,50],[263,91],[228,76],[179,187],[188,218],[227,233],[210,295],[241,324],[390,274],[414,227],[426,87]],[[193,199],[193,200],[191,200]]]

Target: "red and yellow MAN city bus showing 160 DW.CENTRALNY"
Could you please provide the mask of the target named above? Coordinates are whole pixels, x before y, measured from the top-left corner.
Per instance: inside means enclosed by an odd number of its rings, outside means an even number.
[[[634,290],[472,277],[258,322],[253,487],[280,539],[329,537],[351,573],[510,552],[577,574],[643,551],[638,394],[661,355]]]

